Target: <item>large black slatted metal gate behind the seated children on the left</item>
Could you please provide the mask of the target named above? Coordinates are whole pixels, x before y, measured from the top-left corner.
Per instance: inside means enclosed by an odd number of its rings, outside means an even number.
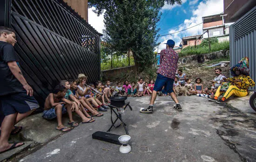
[[[40,106],[61,80],[80,73],[89,82],[100,79],[101,34],[62,0],[12,0],[11,27],[22,72]]]

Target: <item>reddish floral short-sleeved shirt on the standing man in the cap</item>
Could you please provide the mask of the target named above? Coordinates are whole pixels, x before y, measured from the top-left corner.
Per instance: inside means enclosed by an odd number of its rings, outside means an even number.
[[[175,79],[176,69],[178,67],[179,55],[173,49],[164,49],[160,52],[160,68],[156,73]]]

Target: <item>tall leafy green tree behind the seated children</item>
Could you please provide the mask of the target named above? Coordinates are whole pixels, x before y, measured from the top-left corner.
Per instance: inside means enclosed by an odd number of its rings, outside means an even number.
[[[164,3],[181,4],[181,0],[89,0],[98,15],[103,11],[106,29],[103,40],[112,50],[123,53],[132,50],[137,69],[147,67],[154,59],[157,46],[157,22]]]

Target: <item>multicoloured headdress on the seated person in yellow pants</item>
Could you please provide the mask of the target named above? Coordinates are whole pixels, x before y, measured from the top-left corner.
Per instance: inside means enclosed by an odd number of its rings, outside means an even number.
[[[236,69],[239,69],[243,75],[250,75],[249,58],[243,57],[236,65],[230,68],[230,73],[232,76],[237,76],[235,73]]]

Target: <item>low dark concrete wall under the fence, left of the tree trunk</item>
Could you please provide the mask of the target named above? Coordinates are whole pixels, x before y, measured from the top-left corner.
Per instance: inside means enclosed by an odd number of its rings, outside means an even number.
[[[102,70],[101,80],[111,80],[115,78],[116,75],[120,75],[121,73],[125,74],[131,70],[135,71],[135,66],[128,66],[128,67],[110,69],[110,70]]]

